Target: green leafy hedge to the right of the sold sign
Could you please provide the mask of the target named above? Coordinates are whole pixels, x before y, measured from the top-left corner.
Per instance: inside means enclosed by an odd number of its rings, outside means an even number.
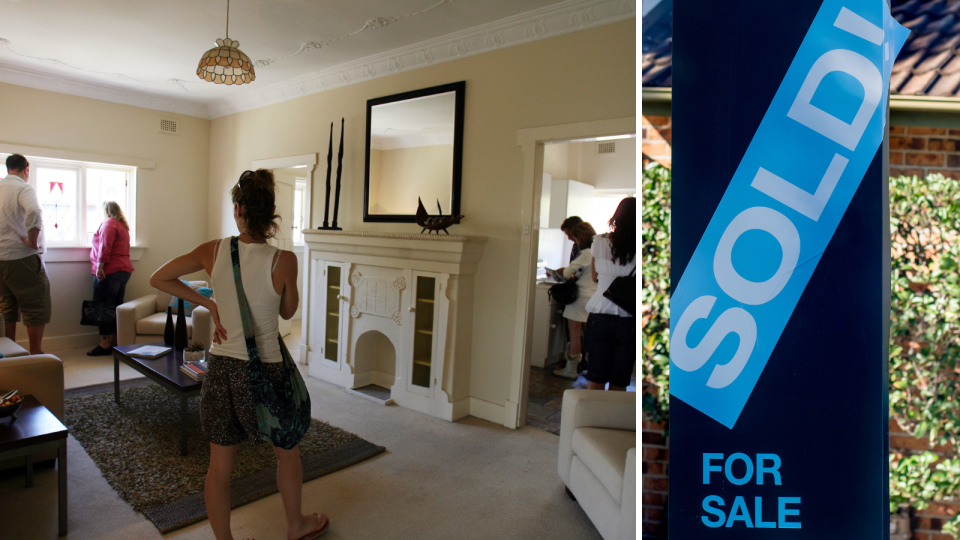
[[[938,454],[891,455],[890,506],[960,489],[960,182],[890,179],[890,416]],[[943,457],[946,455],[947,457]],[[956,534],[960,517],[944,527]]]

